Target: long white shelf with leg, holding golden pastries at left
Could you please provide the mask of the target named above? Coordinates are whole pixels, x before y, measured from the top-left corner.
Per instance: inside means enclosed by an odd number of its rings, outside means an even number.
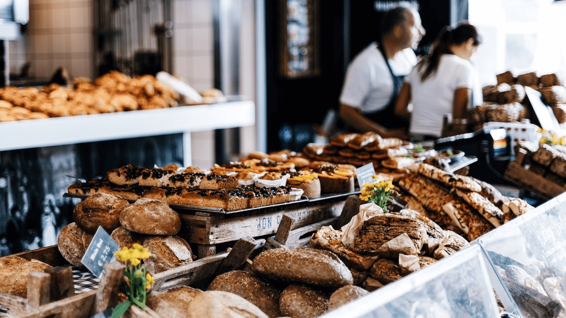
[[[188,166],[191,131],[254,123],[252,101],[2,122],[0,151],[182,133]]]

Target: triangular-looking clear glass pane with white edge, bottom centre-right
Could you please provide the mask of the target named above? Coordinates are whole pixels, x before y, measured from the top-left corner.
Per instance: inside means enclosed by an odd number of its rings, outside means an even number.
[[[482,254],[475,244],[321,317],[499,317]]]

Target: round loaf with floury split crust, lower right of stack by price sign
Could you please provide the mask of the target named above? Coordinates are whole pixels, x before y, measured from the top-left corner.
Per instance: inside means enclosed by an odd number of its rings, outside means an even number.
[[[144,240],[143,246],[151,253],[147,260],[153,261],[156,273],[192,262],[191,247],[176,235],[151,236]]]

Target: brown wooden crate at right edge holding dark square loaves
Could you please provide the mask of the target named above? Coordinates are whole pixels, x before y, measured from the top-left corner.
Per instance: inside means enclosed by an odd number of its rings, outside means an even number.
[[[522,163],[525,160],[525,155],[525,150],[519,149],[516,154],[515,161],[509,162],[509,165],[505,170],[505,174],[503,175],[503,178],[506,181],[511,182],[518,187],[525,188],[545,200],[550,200],[566,191],[565,187],[544,178],[542,175],[525,169],[522,166]]]

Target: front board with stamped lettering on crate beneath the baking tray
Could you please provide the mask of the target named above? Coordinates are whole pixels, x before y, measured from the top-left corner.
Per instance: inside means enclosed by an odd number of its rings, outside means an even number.
[[[209,221],[206,226],[203,226],[201,220],[194,220],[194,217],[191,215],[180,214],[183,226],[178,235],[187,240],[187,242],[199,244],[217,244],[230,242],[242,237],[260,237],[274,234],[283,214],[289,214],[294,219],[293,229],[297,229],[298,227],[339,216],[344,203],[345,201],[329,202],[311,207],[279,210],[260,215],[226,218]]]

